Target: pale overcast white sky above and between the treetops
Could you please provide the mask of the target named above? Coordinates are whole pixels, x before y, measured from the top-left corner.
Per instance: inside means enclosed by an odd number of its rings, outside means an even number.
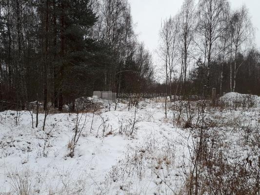
[[[129,0],[135,25],[135,32],[146,47],[155,52],[158,47],[159,30],[162,19],[175,15],[183,0]],[[254,27],[255,39],[260,49],[260,0],[229,0],[232,8],[243,3],[248,7]]]

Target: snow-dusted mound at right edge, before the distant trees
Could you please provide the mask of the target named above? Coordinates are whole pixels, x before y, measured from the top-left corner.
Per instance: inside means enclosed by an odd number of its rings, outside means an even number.
[[[239,104],[257,106],[260,104],[260,97],[256,95],[230,92],[220,97],[220,101],[228,105]]]

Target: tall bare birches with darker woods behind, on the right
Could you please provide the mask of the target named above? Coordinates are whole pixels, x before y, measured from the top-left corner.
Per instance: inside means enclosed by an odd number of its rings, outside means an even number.
[[[206,96],[211,88],[260,94],[260,53],[245,5],[228,0],[184,0],[179,13],[161,23],[158,54],[170,94]]]

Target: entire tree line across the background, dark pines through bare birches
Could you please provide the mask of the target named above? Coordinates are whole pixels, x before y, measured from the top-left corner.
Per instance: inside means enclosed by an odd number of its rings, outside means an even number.
[[[0,0],[0,107],[64,104],[92,92],[260,93],[260,53],[243,5],[184,0],[161,23],[155,72],[127,0]],[[163,73],[164,83],[154,76]],[[73,107],[73,106],[72,106]]]

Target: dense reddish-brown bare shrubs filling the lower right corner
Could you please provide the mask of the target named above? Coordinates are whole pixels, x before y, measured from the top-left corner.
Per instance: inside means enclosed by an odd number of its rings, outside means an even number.
[[[254,132],[250,125],[245,127],[245,136],[241,137],[244,142],[241,143],[246,148],[253,141],[251,135]],[[194,144],[189,146],[192,169],[186,178],[185,191],[188,195],[260,194],[260,148],[251,151],[251,145],[247,156],[230,157],[229,145],[220,139],[219,132],[208,128],[200,131],[199,137],[195,135],[191,133],[190,137],[190,142]]]

